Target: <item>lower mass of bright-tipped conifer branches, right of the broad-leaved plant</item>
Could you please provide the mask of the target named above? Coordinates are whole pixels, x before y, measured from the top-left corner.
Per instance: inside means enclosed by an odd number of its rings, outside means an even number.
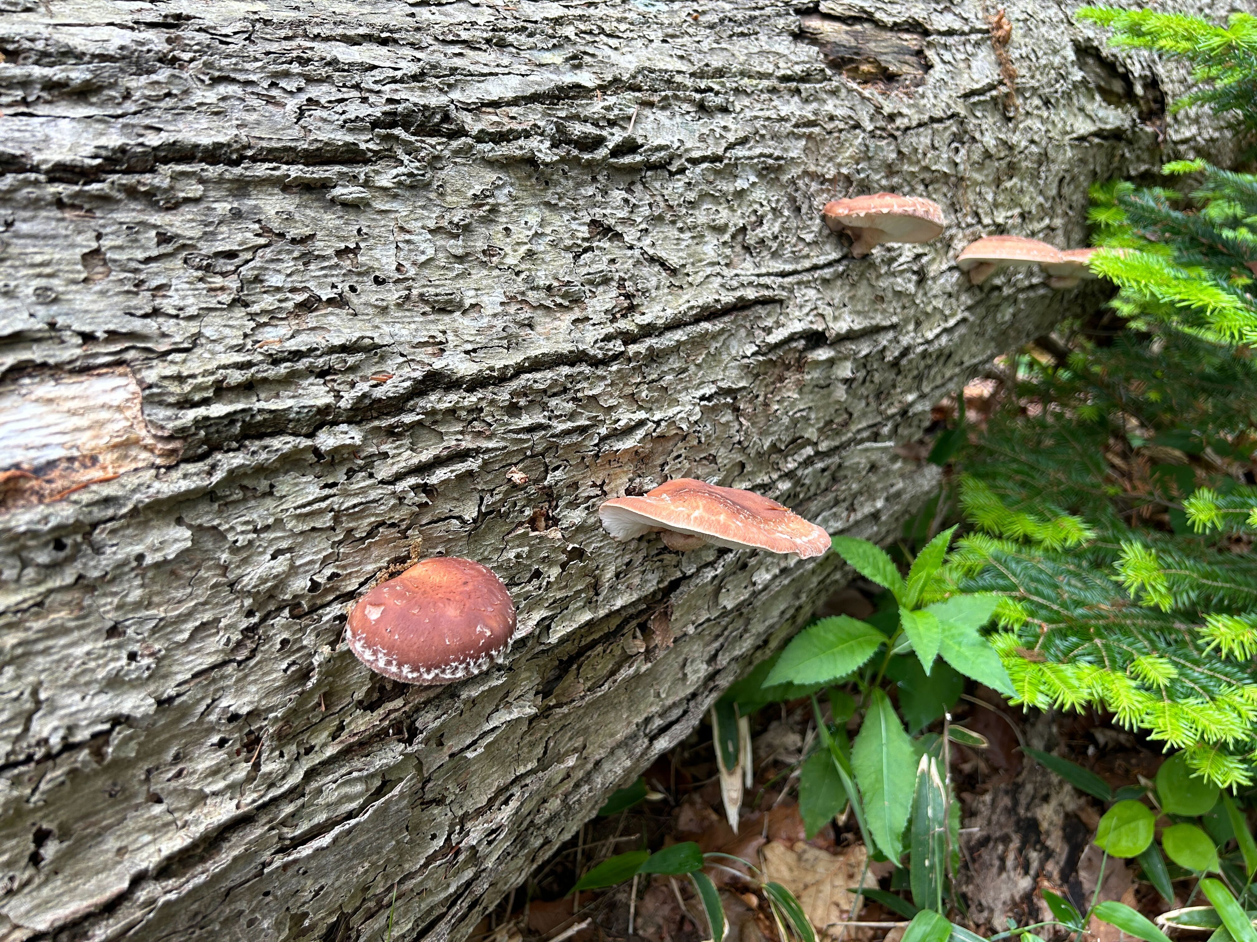
[[[1237,476],[1257,450],[1257,364],[1158,327],[1062,369],[1024,358],[1021,374],[963,458],[979,533],[945,570],[1001,597],[992,641],[1013,702],[1105,707],[1212,781],[1249,781],[1257,559],[1233,539],[1248,511],[1205,529],[1190,507],[1202,485],[1252,492]]]

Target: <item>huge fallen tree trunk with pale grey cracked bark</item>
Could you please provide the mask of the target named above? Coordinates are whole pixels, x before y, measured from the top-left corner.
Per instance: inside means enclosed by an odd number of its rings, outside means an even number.
[[[1011,95],[977,0],[0,0],[0,938],[464,936],[843,575],[600,501],[891,535],[892,446],[1084,296],[958,250],[1209,148],[1068,6]],[[855,261],[877,190],[952,225]],[[446,688],[342,642],[417,536],[530,632]]]

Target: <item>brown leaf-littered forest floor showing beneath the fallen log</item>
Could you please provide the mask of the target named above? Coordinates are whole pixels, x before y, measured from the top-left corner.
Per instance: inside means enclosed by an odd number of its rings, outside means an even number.
[[[867,597],[848,588],[822,614],[859,617],[861,607],[869,607]],[[1090,712],[1023,713],[983,687],[970,686],[952,716],[989,744],[980,750],[954,746],[950,752],[952,784],[962,808],[954,894],[959,904],[953,906],[953,921],[989,936],[1008,929],[1009,918],[1021,926],[1051,918],[1042,889],[1085,909],[1100,873],[1101,853],[1091,838],[1104,809],[1026,757],[1022,747],[1065,756],[1117,789],[1155,775],[1163,759],[1156,744]],[[684,877],[641,877],[578,898],[571,892],[581,874],[613,854],[693,840],[704,852],[752,862],[766,880],[791,889],[818,939],[897,942],[908,924],[904,914],[869,898],[856,904],[852,891],[866,864],[856,821],[840,815],[812,839],[804,834],[797,770],[815,735],[811,702],[769,705],[753,716],[752,730],[754,784],[745,789],[737,831],[723,809],[711,730],[704,723],[646,770],[649,800],[587,821],[499,904],[473,939],[703,942],[709,937],[703,908]],[[915,770],[904,769],[904,775]],[[734,867],[709,865],[706,873],[724,903],[729,942],[778,942],[753,880]],[[889,862],[869,862],[865,887],[910,898],[906,870]],[[1100,898],[1124,901],[1149,917],[1172,908],[1120,860],[1109,860]],[[1177,899],[1175,906],[1185,902]],[[1092,922],[1091,928],[1100,942],[1121,942],[1114,927]]]

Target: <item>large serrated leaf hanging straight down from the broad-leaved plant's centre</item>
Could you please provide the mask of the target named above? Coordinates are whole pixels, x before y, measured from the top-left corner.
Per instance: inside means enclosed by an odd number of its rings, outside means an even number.
[[[864,796],[869,831],[896,867],[913,804],[914,781],[904,770],[914,764],[913,741],[895,716],[895,707],[885,691],[874,687],[869,712],[851,750],[851,765]]]

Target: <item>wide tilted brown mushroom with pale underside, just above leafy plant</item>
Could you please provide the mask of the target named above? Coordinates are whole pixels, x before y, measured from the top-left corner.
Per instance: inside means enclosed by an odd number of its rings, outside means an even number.
[[[804,559],[830,549],[823,529],[777,501],[693,477],[669,481],[641,497],[608,500],[598,516],[617,540],[662,531],[674,549],[695,549],[706,541],[730,549],[797,553]]]

